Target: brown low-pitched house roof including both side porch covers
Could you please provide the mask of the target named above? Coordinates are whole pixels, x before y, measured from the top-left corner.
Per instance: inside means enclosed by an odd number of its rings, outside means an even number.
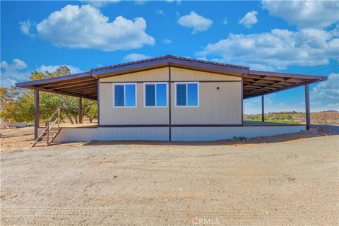
[[[222,64],[212,61],[202,61],[166,55],[164,57],[100,67],[97,69],[91,69],[88,72],[77,73],[69,76],[16,83],[16,87],[97,100],[98,78],[155,69],[169,65],[184,69],[243,76],[244,98],[274,93],[280,90],[294,88],[308,83],[324,81],[327,79],[325,76],[306,76],[291,73],[249,71],[249,68],[246,66]]]

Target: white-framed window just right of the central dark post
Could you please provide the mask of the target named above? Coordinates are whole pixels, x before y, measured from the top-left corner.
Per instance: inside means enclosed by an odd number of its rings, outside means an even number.
[[[176,107],[198,107],[198,83],[176,83],[175,89]]]

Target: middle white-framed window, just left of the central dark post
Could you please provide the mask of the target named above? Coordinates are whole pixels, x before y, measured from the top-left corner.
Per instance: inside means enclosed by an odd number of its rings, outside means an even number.
[[[167,83],[145,83],[145,107],[167,107]]]

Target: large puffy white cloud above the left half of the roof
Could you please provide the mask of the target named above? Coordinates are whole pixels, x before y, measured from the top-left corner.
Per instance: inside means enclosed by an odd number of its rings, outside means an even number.
[[[143,18],[118,16],[112,22],[90,5],[67,5],[36,25],[38,36],[58,47],[115,51],[137,49],[155,40]]]

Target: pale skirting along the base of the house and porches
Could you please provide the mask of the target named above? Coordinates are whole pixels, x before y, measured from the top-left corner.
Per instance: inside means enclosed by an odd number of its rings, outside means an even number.
[[[172,127],[172,141],[215,141],[244,136],[273,136],[297,133],[304,125]],[[39,128],[41,133],[43,128]],[[55,142],[71,141],[169,141],[169,127],[63,128]]]

